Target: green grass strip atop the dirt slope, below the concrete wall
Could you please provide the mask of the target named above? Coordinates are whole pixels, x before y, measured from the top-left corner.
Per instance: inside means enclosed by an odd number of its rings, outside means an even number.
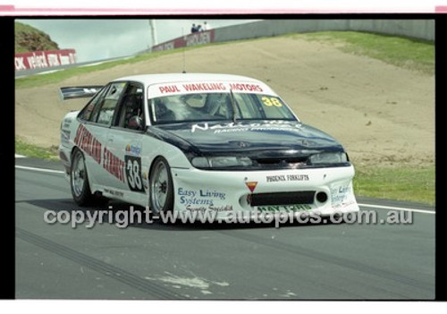
[[[358,31],[322,31],[291,34],[319,42],[338,43],[347,53],[367,55],[410,70],[434,74],[434,42]]]

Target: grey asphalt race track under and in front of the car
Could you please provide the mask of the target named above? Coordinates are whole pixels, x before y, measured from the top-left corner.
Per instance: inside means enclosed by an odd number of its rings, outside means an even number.
[[[17,299],[435,297],[434,208],[358,198],[362,210],[375,210],[381,218],[391,210],[411,216],[407,225],[155,223],[119,228],[105,223],[72,228],[44,221],[47,210],[80,209],[61,170],[59,163],[16,158]]]

